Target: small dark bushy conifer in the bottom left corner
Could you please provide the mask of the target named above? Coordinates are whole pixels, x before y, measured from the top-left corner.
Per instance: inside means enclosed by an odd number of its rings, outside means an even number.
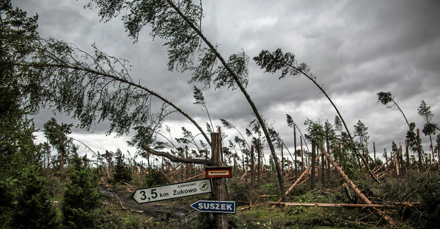
[[[47,181],[38,167],[25,168],[19,180],[16,208],[13,211],[14,228],[56,228],[59,223],[50,202]]]

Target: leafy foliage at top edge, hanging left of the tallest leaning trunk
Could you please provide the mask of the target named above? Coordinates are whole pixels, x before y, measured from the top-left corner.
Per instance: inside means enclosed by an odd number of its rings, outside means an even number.
[[[100,8],[99,16],[108,21],[115,18],[122,9],[130,12],[122,17],[129,36],[137,41],[139,32],[146,25],[152,28],[151,36],[167,40],[169,47],[168,55],[170,61],[168,68],[184,71],[191,67],[194,61],[193,53],[199,47],[200,40],[197,33],[189,26],[185,19],[180,17],[176,11],[170,10],[171,6],[166,0],[154,1],[120,1],[93,0]],[[87,5],[91,7],[92,4]],[[195,26],[202,18],[201,5],[195,5],[190,0],[180,1],[178,6],[186,15],[186,19]]]

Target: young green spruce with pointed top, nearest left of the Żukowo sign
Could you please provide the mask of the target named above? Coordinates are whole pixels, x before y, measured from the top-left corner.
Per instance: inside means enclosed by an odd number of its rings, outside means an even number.
[[[97,175],[82,166],[82,160],[73,158],[74,170],[69,174],[70,183],[66,184],[61,211],[63,225],[68,228],[85,228],[94,223],[99,206]]]

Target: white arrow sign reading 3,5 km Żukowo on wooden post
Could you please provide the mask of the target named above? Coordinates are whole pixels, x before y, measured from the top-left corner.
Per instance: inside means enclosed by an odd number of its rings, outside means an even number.
[[[209,192],[212,192],[210,179],[201,179],[146,189],[138,189],[134,192],[132,199],[138,204],[143,204]]]

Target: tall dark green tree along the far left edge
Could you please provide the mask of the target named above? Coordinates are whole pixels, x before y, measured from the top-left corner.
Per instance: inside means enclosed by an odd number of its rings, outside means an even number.
[[[28,73],[19,74],[17,63],[31,52],[37,37],[38,16],[0,1],[0,174],[17,175],[28,164],[37,164],[40,149],[32,143],[32,120],[40,104],[40,91]]]

